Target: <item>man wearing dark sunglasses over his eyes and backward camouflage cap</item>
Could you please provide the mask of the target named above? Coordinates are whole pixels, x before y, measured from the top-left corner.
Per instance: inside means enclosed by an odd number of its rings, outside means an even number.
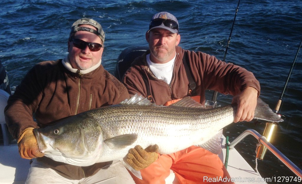
[[[26,183],[134,183],[117,161],[86,167],[53,161],[40,153],[33,134],[34,128],[129,98],[124,85],[101,65],[104,38],[97,21],[77,20],[70,32],[69,54],[36,64],[10,96],[5,108],[8,128],[18,141],[21,157],[37,158],[31,163]]]

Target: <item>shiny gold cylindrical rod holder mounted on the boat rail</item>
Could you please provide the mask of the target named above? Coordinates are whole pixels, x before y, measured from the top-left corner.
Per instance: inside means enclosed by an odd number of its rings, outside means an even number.
[[[277,125],[271,122],[267,122],[264,132],[263,132],[263,136],[266,137],[266,140],[268,142],[271,142],[271,140],[274,140],[274,135],[277,129]],[[265,153],[267,151],[267,147],[265,147],[263,144],[260,144],[260,146],[257,149],[257,154],[256,154],[256,158],[263,160]]]

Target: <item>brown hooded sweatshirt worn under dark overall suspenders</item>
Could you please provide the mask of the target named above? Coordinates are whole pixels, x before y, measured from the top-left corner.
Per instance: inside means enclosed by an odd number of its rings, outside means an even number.
[[[252,72],[234,65],[218,60],[214,56],[202,52],[193,52],[176,47],[176,58],[171,84],[164,80],[157,79],[149,70],[146,55],[150,51],[133,61],[131,67],[126,71],[122,82],[127,87],[131,95],[141,94],[147,97],[146,83],[152,97],[157,105],[165,104],[170,100],[181,99],[188,96],[188,77],[182,58],[187,58],[192,77],[196,82],[196,93],[200,95],[200,103],[204,105],[205,90],[216,90],[222,94],[239,94],[244,88],[251,86],[258,90],[260,94],[260,84]]]

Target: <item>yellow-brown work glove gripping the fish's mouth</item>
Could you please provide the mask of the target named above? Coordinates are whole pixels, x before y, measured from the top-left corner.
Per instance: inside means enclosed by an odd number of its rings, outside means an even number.
[[[36,137],[32,127],[25,129],[18,137],[18,147],[20,156],[24,159],[32,159],[44,156],[38,147]]]

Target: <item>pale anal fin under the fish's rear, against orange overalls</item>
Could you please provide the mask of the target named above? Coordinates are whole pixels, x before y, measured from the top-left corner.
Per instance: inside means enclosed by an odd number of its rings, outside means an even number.
[[[198,145],[198,146],[218,155],[222,151],[221,136],[222,136],[222,129],[206,143],[203,143],[202,145]]]

